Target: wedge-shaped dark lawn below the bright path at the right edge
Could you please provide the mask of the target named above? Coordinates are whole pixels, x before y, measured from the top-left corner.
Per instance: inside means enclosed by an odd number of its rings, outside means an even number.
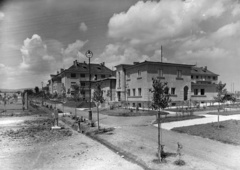
[[[207,123],[186,127],[173,128],[173,131],[187,133],[189,135],[201,136],[217,140],[223,143],[240,145],[240,120],[227,120],[218,123]]]

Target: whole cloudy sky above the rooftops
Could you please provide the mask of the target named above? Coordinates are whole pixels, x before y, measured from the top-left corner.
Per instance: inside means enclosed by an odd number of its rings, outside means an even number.
[[[237,0],[5,0],[0,3],[0,88],[45,84],[73,60],[112,68],[133,61],[207,66],[240,90]]]

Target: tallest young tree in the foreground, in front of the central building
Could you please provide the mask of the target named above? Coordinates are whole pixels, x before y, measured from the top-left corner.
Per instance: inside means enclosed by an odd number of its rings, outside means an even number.
[[[161,162],[162,160],[162,147],[161,147],[161,140],[160,140],[160,131],[161,131],[161,124],[160,124],[160,113],[161,110],[165,109],[169,106],[169,103],[171,102],[171,99],[169,97],[169,94],[166,93],[168,86],[167,82],[163,83],[160,81],[160,79],[154,79],[153,78],[153,89],[151,92],[153,93],[152,98],[152,107],[154,110],[157,110],[157,121],[158,121],[158,159]]]

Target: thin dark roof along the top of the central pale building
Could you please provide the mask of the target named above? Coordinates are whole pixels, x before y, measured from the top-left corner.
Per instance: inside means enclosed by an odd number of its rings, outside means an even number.
[[[125,64],[120,64],[120,65],[124,65],[124,66],[127,66],[126,68],[129,69],[129,68],[133,68],[133,67],[136,67],[136,66],[142,66],[142,65],[146,65],[146,64],[159,64],[159,65],[167,65],[167,66],[181,66],[181,67],[193,67],[195,65],[191,65],[191,64],[178,64],[178,63],[165,63],[165,62],[155,62],[155,61],[144,61],[144,62],[135,62],[135,64],[133,65],[125,65]],[[120,65],[117,65],[117,66],[120,66]],[[117,67],[115,66],[115,67]]]

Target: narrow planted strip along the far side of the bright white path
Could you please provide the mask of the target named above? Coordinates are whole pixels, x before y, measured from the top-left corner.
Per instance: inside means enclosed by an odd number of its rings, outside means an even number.
[[[205,116],[197,116],[197,115],[187,115],[187,116],[171,116],[171,117],[163,117],[160,119],[161,123],[168,123],[168,122],[176,122],[182,120],[190,120],[190,119],[199,119],[204,118]],[[153,122],[153,124],[157,123],[157,120]]]

